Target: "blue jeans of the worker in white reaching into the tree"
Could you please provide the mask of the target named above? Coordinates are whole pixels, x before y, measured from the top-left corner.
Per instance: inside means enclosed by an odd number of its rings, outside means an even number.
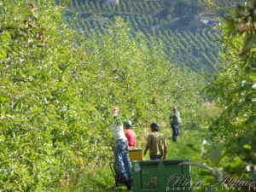
[[[114,146],[115,167],[119,177],[123,180],[131,180],[131,162],[129,158],[127,140],[117,140]]]

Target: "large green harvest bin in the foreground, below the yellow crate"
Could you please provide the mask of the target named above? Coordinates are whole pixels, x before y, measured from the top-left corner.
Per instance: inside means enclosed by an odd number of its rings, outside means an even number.
[[[132,163],[134,192],[192,191],[190,166],[177,166],[189,159],[136,160]]]

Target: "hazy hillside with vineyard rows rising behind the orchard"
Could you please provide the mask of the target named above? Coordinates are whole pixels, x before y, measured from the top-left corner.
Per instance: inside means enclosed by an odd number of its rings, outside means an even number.
[[[213,1],[230,8],[242,0]],[[61,0],[56,0],[60,4]],[[106,34],[114,16],[131,23],[133,34],[143,32],[150,41],[157,39],[173,63],[189,67],[199,73],[212,72],[218,63],[221,45],[216,41],[218,32],[211,30],[218,24],[203,0],[72,0],[67,20],[78,14],[76,27],[90,34]]]

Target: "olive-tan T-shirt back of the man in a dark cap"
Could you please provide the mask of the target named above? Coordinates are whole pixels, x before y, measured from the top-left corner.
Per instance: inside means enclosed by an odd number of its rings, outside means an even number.
[[[150,142],[149,155],[163,155],[166,138],[158,131],[151,132],[148,135]]]

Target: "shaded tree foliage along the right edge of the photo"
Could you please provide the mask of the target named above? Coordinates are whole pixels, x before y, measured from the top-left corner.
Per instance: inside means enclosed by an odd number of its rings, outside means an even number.
[[[234,15],[224,18],[220,26],[224,32],[221,66],[208,77],[205,89],[221,109],[210,126],[213,146],[205,154],[208,164],[221,174],[237,180],[242,177],[248,183],[256,178],[255,9],[255,0],[238,4],[235,12],[230,11]],[[241,30],[244,25],[247,27]],[[249,189],[248,185],[243,188]]]

